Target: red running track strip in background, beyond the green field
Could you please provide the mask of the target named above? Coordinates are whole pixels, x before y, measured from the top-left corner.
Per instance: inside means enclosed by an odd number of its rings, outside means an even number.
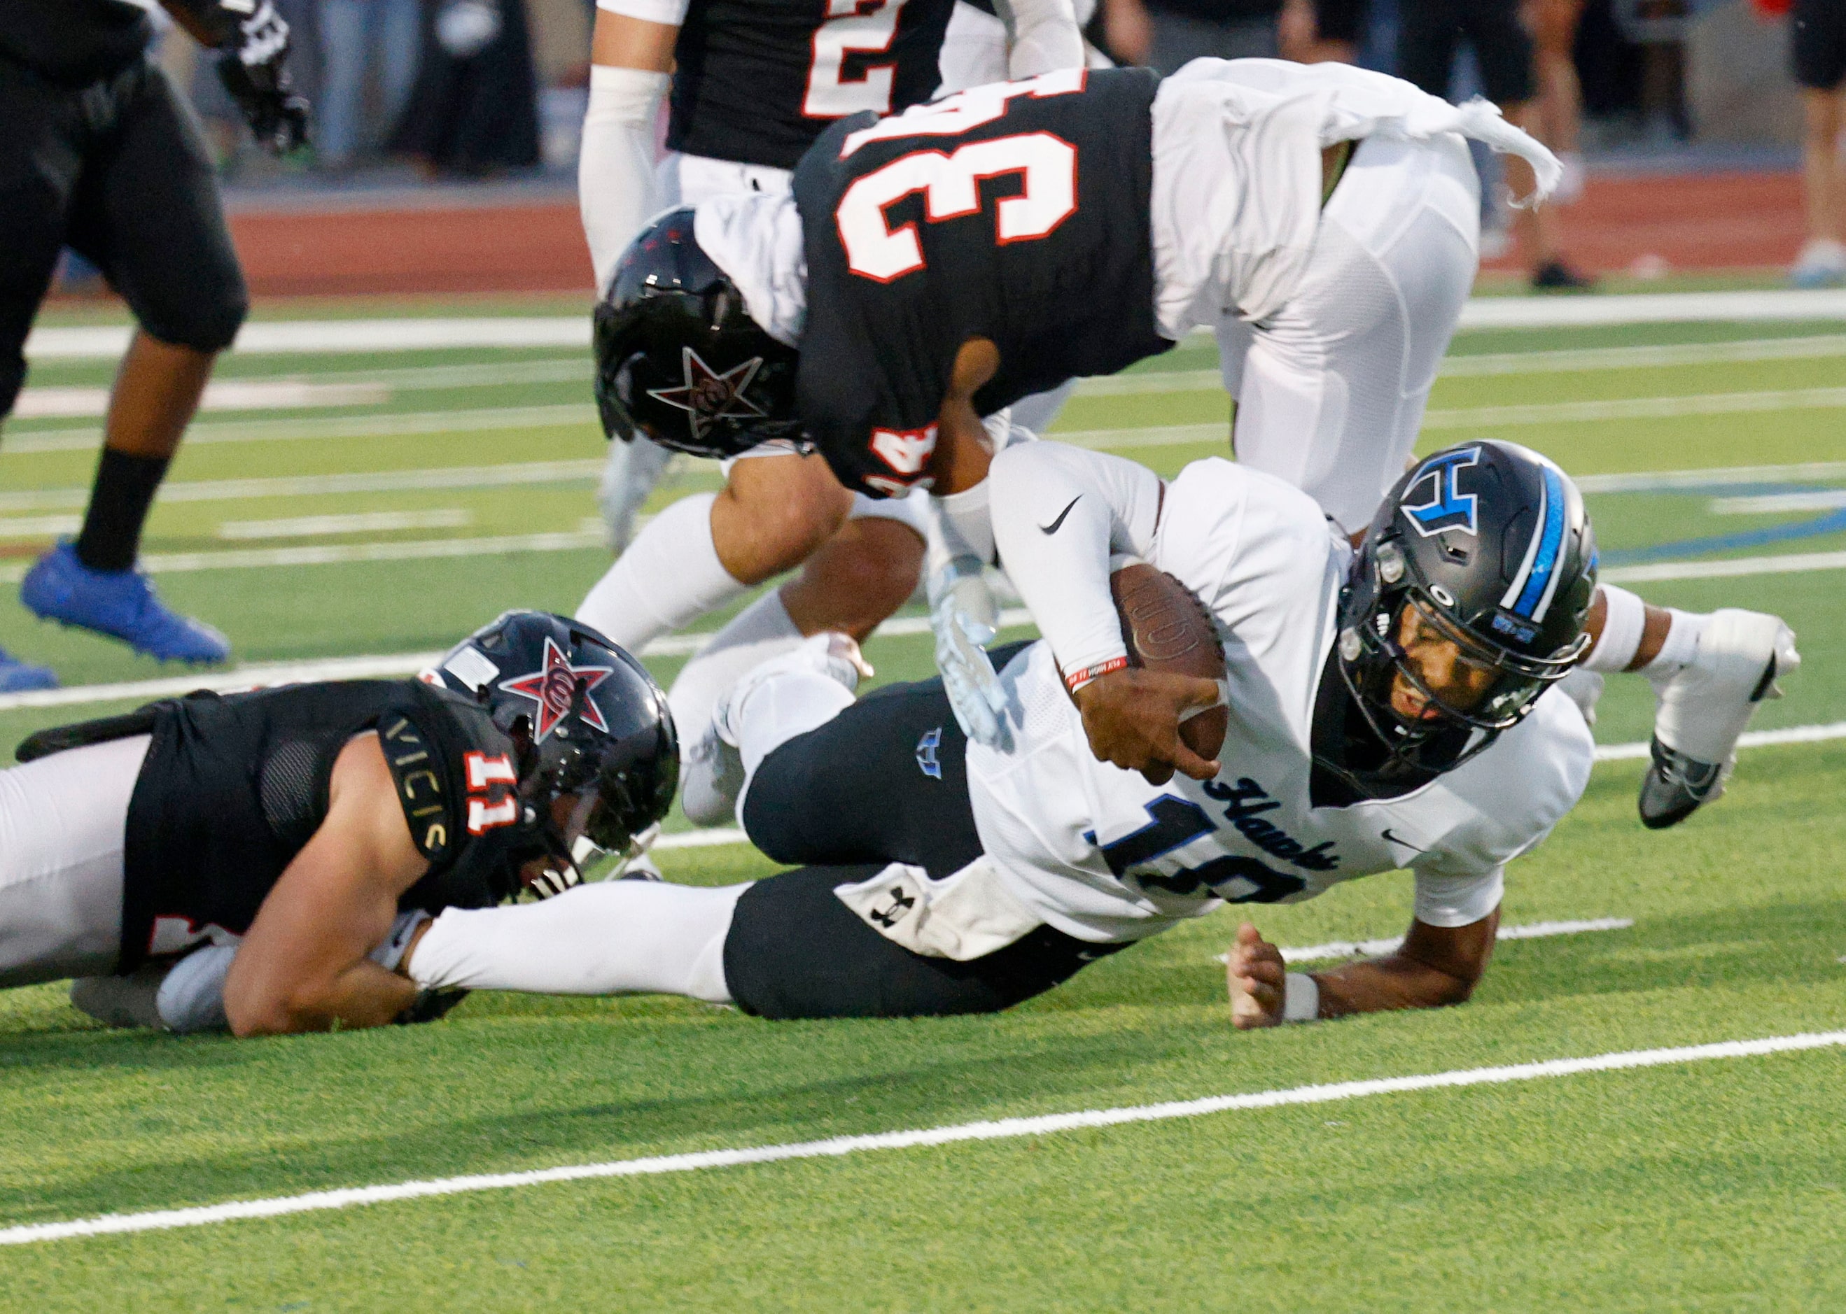
[[[258,210],[234,216],[231,229],[257,295],[591,286],[569,201]],[[1802,244],[1802,183],[1796,173],[1595,177],[1564,210],[1564,231],[1569,258],[1595,273],[1630,269],[1643,257],[1674,271],[1785,266]]]

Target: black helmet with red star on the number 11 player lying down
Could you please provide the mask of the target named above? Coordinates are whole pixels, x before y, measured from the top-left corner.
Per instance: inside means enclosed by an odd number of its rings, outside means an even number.
[[[576,884],[602,853],[624,853],[666,816],[679,784],[679,736],[666,694],[622,648],[548,611],[508,611],[436,666],[513,740],[528,829]],[[569,819],[557,801],[574,795]]]

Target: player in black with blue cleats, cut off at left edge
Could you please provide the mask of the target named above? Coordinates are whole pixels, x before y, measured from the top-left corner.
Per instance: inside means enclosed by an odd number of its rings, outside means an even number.
[[[306,137],[290,90],[288,24],[271,0],[162,0],[218,48],[218,76],[266,148]],[[26,378],[22,347],[63,247],[103,271],[140,328],[109,400],[83,532],[26,576],[46,620],[122,639],[161,661],[223,661],[231,644],[161,603],[135,570],[142,522],[249,297],[198,118],[159,65],[146,4],[0,6],[0,419]],[[44,666],[0,653],[0,690],[48,688]]]

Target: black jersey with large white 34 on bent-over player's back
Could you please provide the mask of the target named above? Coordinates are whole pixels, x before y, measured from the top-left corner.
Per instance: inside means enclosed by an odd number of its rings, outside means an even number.
[[[847,487],[923,474],[954,356],[999,347],[982,415],[1167,351],[1154,321],[1146,68],[977,87],[831,127],[794,175],[807,244],[797,404]]]

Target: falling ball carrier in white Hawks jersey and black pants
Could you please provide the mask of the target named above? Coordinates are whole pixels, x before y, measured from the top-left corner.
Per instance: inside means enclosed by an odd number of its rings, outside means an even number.
[[[1506,864],[1589,779],[1582,714],[1545,696],[1588,644],[1595,592],[1575,485],[1514,445],[1449,448],[1403,476],[1355,554],[1311,498],[1222,460],[1163,484],[1030,443],[993,478],[1021,592],[1058,616],[1004,663],[1008,747],[962,736],[940,681],[855,703],[855,646],[814,637],[716,712],[751,840],[810,866],[445,912],[412,978],[681,993],[761,1017],[993,1011],[1222,902],[1410,867],[1410,934],[1381,960],[1285,974],[1239,932],[1233,1019],[1466,1000]],[[1109,598],[1124,554],[1209,611],[1222,688],[1128,668]],[[1218,703],[1228,733],[1205,762],[1178,723]]]

